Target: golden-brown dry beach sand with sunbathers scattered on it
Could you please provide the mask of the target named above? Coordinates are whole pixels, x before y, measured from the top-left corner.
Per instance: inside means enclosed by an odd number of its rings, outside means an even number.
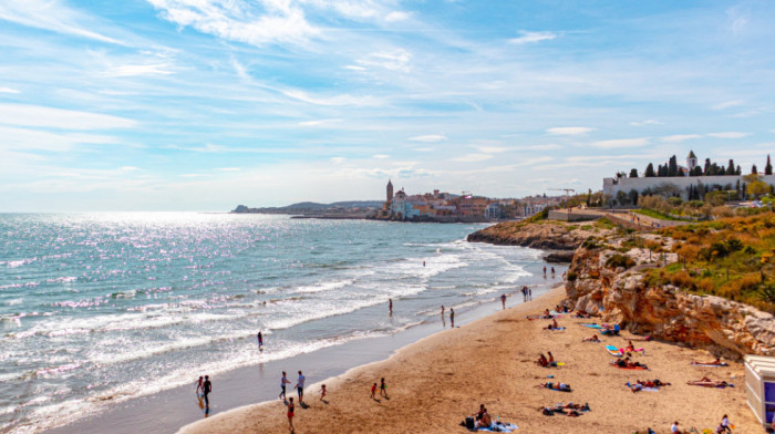
[[[515,296],[519,297],[519,296]],[[683,430],[715,428],[724,414],[737,433],[763,432],[745,403],[744,370],[698,368],[692,360],[711,360],[704,351],[661,342],[634,342],[645,348],[633,359],[650,371],[626,371],[609,365],[614,360],[604,345],[626,347],[623,338],[601,337],[601,343],[581,342],[595,330],[579,326],[589,320],[558,319],[565,331],[544,330],[549,320],[528,320],[565,298],[557,287],[531,302],[518,304],[443,331],[397,351],[385,361],[350,370],[306,388],[308,407],[297,405],[296,433],[464,433],[459,423],[485,404],[503,422],[519,426],[517,433],[633,433],[651,427],[668,433],[673,421]],[[628,333],[624,333],[628,335]],[[564,366],[540,368],[539,352],[551,351]],[[547,380],[547,375],[554,375]],[[725,380],[734,388],[705,389],[688,385],[703,375]],[[372,383],[384,376],[390,399],[369,397]],[[296,375],[290,375],[291,381]],[[632,393],[628,381],[659,379],[672,383],[659,392]],[[541,382],[564,382],[572,393],[536,388]],[[326,383],[326,402],[319,400]],[[292,384],[291,384],[292,385]],[[279,373],[278,373],[279,390]],[[289,396],[294,393],[289,388]],[[221,391],[220,393],[227,393]],[[589,403],[580,417],[544,416],[541,406]],[[198,433],[281,433],[288,431],[286,407],[280,401],[236,409],[180,430]]]

